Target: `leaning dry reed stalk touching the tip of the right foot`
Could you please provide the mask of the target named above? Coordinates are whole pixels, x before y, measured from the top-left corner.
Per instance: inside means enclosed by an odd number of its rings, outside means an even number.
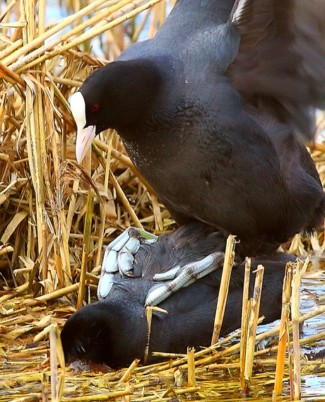
[[[228,288],[232,264],[235,259],[235,236],[229,235],[225,248],[225,261],[223,262],[223,276],[221,277],[220,290],[218,295],[218,304],[215,311],[215,321],[213,326],[213,335],[211,345],[218,342],[221,324],[223,324],[223,315],[225,314],[225,305],[228,297]]]

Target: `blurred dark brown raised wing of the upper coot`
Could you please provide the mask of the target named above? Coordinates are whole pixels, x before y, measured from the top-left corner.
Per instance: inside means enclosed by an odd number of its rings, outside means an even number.
[[[227,75],[244,99],[272,99],[302,139],[314,138],[311,107],[325,108],[324,0],[237,0],[240,30]]]

